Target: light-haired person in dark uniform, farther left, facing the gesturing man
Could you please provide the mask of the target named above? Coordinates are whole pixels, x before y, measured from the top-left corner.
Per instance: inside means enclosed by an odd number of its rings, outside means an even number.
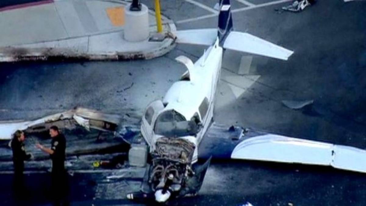
[[[32,155],[27,154],[24,147],[25,135],[24,132],[16,130],[11,140],[11,150],[13,151],[14,163],[14,190],[22,191],[24,189],[23,171],[24,161],[29,160]]]

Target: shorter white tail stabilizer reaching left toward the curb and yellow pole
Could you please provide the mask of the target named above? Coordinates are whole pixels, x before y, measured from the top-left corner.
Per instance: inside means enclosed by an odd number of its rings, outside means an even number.
[[[212,45],[217,38],[217,29],[191,29],[176,31],[178,43]]]

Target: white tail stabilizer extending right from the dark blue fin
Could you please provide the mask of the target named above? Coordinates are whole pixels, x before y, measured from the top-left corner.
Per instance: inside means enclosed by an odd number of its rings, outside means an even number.
[[[242,32],[230,32],[225,40],[224,48],[283,60],[287,60],[294,53],[276,44]]]

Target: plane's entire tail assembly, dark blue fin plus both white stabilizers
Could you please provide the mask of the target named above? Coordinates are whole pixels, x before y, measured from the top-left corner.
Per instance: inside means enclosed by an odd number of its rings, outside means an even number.
[[[230,0],[219,0],[219,22],[217,29],[192,29],[177,31],[178,43],[213,45],[219,38],[224,49],[287,60],[294,52],[249,33],[234,32]]]

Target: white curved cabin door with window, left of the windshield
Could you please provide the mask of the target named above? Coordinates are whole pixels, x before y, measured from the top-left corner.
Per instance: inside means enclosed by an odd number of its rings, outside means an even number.
[[[156,121],[156,117],[163,109],[163,102],[161,102],[161,100],[155,100],[146,107],[146,110],[142,115],[141,133],[150,147],[153,147],[152,145],[154,144],[152,141],[154,136],[154,124]]]

